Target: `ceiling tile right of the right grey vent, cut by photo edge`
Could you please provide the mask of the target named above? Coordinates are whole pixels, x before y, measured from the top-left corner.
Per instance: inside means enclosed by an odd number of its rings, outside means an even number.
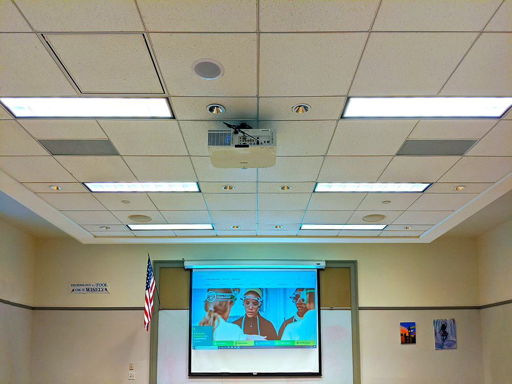
[[[496,124],[467,155],[512,156],[512,120],[503,120]]]

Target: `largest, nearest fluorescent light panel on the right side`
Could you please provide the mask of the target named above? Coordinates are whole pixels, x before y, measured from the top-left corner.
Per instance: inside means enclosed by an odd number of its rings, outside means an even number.
[[[342,117],[500,117],[512,97],[355,97]]]

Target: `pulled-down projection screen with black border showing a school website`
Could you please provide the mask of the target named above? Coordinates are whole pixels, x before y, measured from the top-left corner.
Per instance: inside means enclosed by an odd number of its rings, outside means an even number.
[[[316,269],[191,273],[190,374],[319,374]]]

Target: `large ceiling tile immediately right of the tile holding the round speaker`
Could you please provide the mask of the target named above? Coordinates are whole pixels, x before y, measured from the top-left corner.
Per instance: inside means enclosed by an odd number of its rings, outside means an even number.
[[[262,34],[260,95],[346,95],[367,36],[362,32]]]

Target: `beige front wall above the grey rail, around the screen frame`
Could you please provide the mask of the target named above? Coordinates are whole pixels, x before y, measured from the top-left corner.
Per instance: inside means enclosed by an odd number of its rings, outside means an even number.
[[[141,307],[147,252],[155,260],[357,260],[360,306],[461,306],[479,301],[476,243],[147,244],[37,242],[37,306]],[[70,295],[69,283],[110,282],[111,293]]]

